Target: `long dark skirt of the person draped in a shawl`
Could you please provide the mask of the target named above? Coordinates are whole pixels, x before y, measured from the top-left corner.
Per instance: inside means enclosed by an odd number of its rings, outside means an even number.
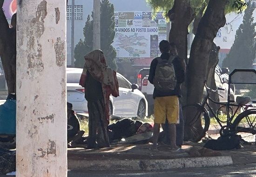
[[[105,105],[104,99],[89,102],[89,135],[88,135],[88,148],[105,148],[109,147],[109,140],[107,134],[107,125],[105,119]]]

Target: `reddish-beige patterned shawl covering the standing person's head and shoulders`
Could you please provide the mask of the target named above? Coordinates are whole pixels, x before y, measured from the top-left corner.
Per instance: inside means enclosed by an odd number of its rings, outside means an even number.
[[[84,56],[85,65],[81,74],[79,85],[85,87],[86,85],[86,72],[90,72],[92,77],[101,82],[102,92],[105,103],[106,122],[109,124],[109,96],[112,94],[114,97],[119,96],[118,82],[116,72],[109,68],[106,64],[106,59],[101,50],[94,50]]]

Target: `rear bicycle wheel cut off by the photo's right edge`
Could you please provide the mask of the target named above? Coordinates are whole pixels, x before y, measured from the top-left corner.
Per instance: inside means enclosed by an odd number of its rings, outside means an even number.
[[[233,122],[237,135],[249,144],[256,142],[256,110],[246,110],[240,113]]]

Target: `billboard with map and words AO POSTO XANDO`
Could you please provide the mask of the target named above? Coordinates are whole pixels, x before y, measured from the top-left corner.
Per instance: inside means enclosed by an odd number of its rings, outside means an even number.
[[[160,55],[158,45],[166,36],[166,20],[162,13],[157,13],[153,19],[152,12],[115,12],[112,45],[119,62],[149,65]]]

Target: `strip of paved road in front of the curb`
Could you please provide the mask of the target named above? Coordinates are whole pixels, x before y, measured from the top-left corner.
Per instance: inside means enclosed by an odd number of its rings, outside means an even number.
[[[69,171],[67,177],[256,177],[256,164],[164,171]]]

